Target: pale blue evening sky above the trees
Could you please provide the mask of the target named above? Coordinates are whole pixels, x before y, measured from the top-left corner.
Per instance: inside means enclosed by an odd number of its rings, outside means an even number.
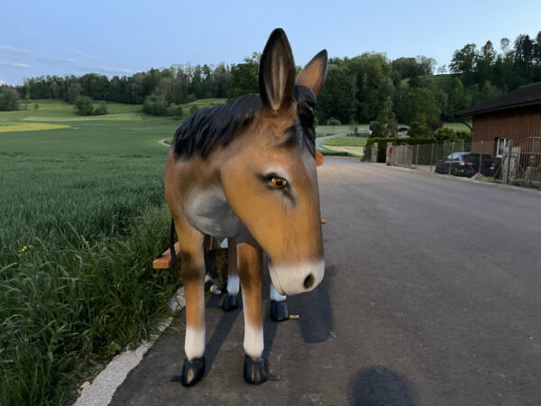
[[[240,63],[281,27],[297,65],[318,51],[448,65],[467,43],[541,31],[541,1],[0,0],[0,84],[41,75],[112,77],[173,64]]]

